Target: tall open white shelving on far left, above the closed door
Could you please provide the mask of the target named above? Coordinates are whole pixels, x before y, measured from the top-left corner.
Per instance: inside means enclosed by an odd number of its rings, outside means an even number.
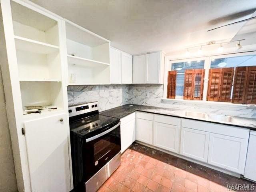
[[[58,22],[11,1],[22,106],[63,109]],[[61,110],[59,110],[61,111]],[[26,114],[26,118],[50,115]]]

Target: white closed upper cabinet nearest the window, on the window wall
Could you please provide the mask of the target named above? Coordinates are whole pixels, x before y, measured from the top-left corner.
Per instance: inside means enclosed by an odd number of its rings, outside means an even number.
[[[154,52],[133,57],[133,83],[163,84],[164,54]]]

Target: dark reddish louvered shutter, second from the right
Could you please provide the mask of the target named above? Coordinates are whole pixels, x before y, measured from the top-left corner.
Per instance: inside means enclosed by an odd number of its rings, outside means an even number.
[[[244,103],[246,81],[246,67],[236,67],[232,103]]]

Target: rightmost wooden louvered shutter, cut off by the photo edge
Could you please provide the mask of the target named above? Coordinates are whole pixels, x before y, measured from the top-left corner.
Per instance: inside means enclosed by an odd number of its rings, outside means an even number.
[[[244,103],[256,104],[256,66],[247,67],[247,82]]]

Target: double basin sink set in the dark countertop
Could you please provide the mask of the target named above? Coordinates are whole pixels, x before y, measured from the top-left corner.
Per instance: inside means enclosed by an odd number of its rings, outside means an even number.
[[[227,116],[227,115],[208,114],[208,113],[192,112],[192,111],[184,111],[182,112],[181,115],[190,117],[190,118],[199,118],[199,119],[213,120],[218,122],[228,122],[228,123],[237,122],[237,120],[235,120],[232,116]]]

